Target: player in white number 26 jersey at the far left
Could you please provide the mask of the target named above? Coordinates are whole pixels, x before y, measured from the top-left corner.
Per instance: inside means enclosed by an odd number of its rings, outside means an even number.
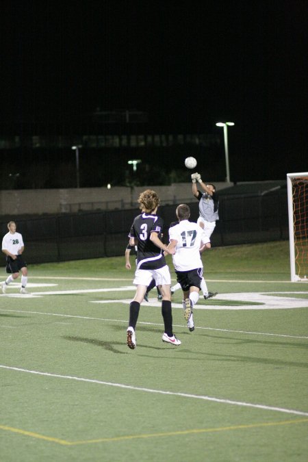
[[[18,278],[19,271],[21,271],[21,294],[27,294],[25,287],[28,281],[28,272],[27,264],[22,257],[25,250],[23,236],[16,232],[14,221],[8,222],[8,230],[9,232],[5,234],[2,240],[2,252],[6,255],[6,272],[10,273],[10,276],[1,283],[1,290],[5,294],[8,285]]]

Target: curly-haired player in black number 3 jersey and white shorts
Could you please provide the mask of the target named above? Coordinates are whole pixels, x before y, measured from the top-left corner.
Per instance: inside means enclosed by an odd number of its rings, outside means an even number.
[[[127,328],[127,345],[136,348],[136,324],[140,303],[146,293],[146,287],[155,279],[162,294],[162,317],[164,319],[163,342],[180,345],[181,341],[173,335],[171,308],[171,277],[168,265],[162,251],[173,255],[175,250],[169,251],[160,240],[164,222],[156,215],[159,197],[155,191],[146,190],[138,198],[142,213],[133,220],[129,231],[129,244],[137,245],[137,267],[133,284],[136,294],[129,305],[129,326]]]

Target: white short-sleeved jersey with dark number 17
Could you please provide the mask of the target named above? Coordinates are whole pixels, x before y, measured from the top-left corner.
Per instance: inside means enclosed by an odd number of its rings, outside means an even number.
[[[189,220],[182,220],[169,229],[169,239],[176,240],[173,265],[177,271],[190,271],[203,268],[200,247],[202,244],[202,228]]]

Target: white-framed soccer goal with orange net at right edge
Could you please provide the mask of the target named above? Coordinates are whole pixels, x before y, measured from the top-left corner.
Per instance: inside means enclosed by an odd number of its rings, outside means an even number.
[[[308,282],[308,172],[287,174],[291,281]]]

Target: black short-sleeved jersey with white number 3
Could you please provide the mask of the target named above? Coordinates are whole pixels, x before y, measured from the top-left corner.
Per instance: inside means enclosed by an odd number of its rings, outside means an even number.
[[[160,237],[164,221],[154,214],[142,213],[133,220],[129,238],[138,240],[137,268],[141,270],[156,270],[166,265],[162,250],[150,240],[151,233]]]

